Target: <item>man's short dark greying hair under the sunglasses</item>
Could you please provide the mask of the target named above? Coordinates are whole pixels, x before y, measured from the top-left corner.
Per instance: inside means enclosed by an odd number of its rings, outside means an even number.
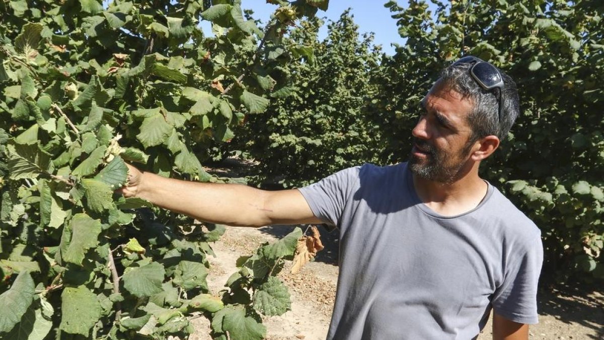
[[[516,117],[520,113],[520,101],[516,83],[503,71],[503,102],[501,103],[501,122],[499,118],[500,90],[484,90],[470,75],[470,63],[452,64],[440,74],[440,81],[450,86],[464,98],[472,100],[474,110],[467,116],[472,129],[469,143],[486,136],[497,136],[500,140],[507,137]]]

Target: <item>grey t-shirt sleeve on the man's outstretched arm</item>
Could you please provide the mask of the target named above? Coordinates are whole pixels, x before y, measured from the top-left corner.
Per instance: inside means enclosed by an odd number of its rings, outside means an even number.
[[[338,226],[353,183],[358,181],[358,173],[358,166],[344,169],[298,190],[316,217],[324,223]]]

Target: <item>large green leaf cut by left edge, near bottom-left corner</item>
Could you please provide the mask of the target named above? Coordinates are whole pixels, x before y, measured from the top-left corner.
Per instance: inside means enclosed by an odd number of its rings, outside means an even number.
[[[0,333],[13,329],[27,312],[34,299],[36,286],[30,273],[19,273],[9,290],[0,295]]]

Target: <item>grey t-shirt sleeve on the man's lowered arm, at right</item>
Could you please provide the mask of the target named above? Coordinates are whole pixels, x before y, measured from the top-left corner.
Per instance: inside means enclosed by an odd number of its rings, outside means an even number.
[[[537,324],[537,284],[543,263],[541,235],[531,238],[523,253],[506,269],[503,284],[491,301],[498,315],[521,324]],[[520,251],[520,250],[519,250]]]

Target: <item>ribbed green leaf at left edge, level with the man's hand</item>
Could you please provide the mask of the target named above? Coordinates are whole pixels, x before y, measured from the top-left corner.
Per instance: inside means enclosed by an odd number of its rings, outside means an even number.
[[[50,155],[43,152],[37,145],[7,145],[8,171],[10,178],[37,178],[50,168]]]

